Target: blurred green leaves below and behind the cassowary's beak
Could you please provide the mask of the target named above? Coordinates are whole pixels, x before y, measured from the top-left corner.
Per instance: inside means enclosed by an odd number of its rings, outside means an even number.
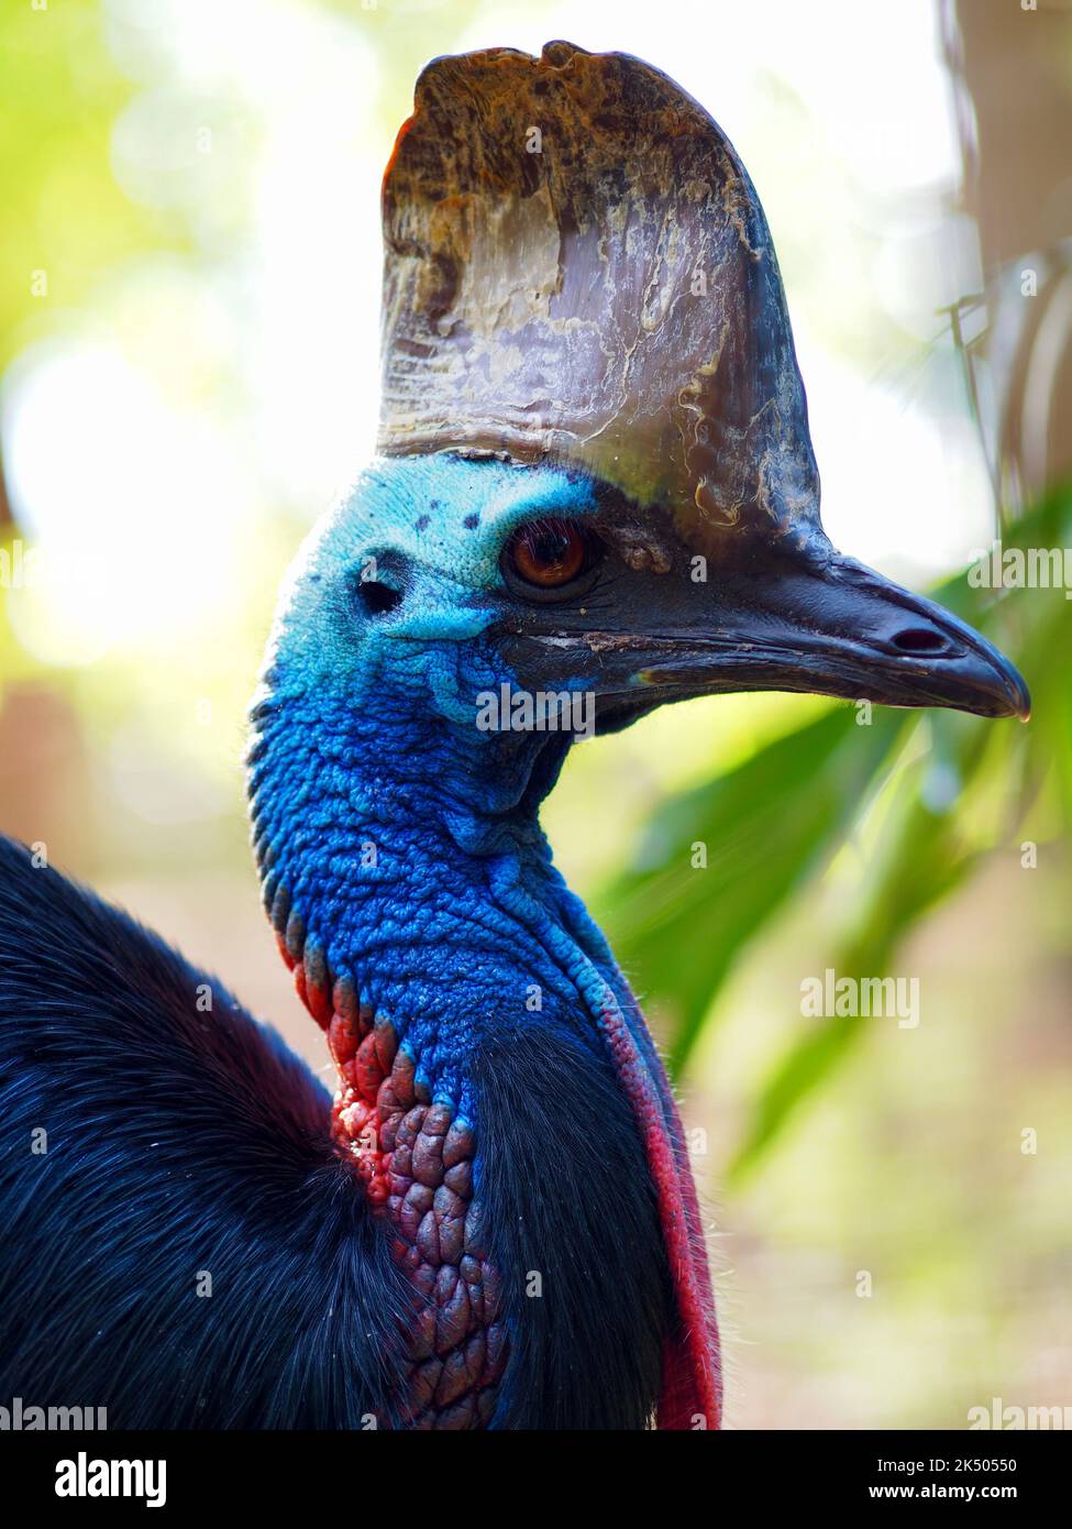
[[[1069,543],[1072,491],[1064,491],[1023,518],[1003,544]],[[1034,703],[1026,734],[1009,722],[956,713],[869,716],[836,706],[665,803],[635,856],[642,868],[627,868],[603,888],[599,908],[622,965],[670,1017],[676,1072],[717,1026],[739,957],[788,899],[807,896],[809,882],[876,798],[887,800],[867,894],[841,943],[820,953],[821,966],[846,977],[887,971],[922,914],[971,875],[986,849],[1011,842],[1051,780],[1043,832],[1057,838],[1072,826],[1072,624],[1064,590],[1006,592],[977,609],[977,592],[960,576],[934,596],[1018,662]],[[1009,598],[1022,628],[1014,639]],[[697,842],[713,856],[702,868],[691,864]],[[794,1110],[866,1029],[861,1017],[815,1021],[774,1063],[726,1171],[731,1185],[763,1162]]]

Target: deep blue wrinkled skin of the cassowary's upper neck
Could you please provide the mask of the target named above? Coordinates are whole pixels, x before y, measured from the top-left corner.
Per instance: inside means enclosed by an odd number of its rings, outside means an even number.
[[[457,685],[459,651],[431,659]],[[466,662],[480,670],[480,650]],[[260,717],[266,901],[286,887],[291,954],[350,979],[417,1081],[468,1116],[466,1058],[482,1041],[541,1023],[598,1049],[595,1014],[635,1005],[537,818],[569,740],[451,726],[382,676],[365,680],[356,708],[352,694],[277,685]]]

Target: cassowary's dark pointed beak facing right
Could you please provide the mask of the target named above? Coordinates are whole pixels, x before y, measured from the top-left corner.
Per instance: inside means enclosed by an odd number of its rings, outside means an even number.
[[[980,717],[1031,714],[1028,687],[985,638],[833,549],[762,555],[754,566],[713,572],[710,584],[687,593],[673,573],[645,575],[644,592],[619,604],[644,612],[644,630],[615,619],[618,630],[589,625],[537,638],[554,645],[560,673],[572,664],[572,673],[592,676],[609,720],[619,709],[743,690],[951,706]],[[543,661],[549,677],[547,647]]]

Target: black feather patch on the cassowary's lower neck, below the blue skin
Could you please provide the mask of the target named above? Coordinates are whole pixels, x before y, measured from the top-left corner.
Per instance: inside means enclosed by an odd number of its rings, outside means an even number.
[[[474,1060],[477,1182],[511,1335],[495,1428],[645,1428],[659,1394],[673,1294],[655,1185],[587,1040],[529,1024]]]

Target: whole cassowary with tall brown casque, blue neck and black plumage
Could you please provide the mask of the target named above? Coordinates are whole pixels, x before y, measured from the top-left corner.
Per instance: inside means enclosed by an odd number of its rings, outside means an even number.
[[[540,803],[575,735],[688,696],[1026,691],[826,540],[763,213],[668,78],[566,43],[433,63],[384,239],[379,454],[298,557],[249,749],[335,1101],[6,842],[0,1393],[112,1427],[714,1428],[674,1099]]]

